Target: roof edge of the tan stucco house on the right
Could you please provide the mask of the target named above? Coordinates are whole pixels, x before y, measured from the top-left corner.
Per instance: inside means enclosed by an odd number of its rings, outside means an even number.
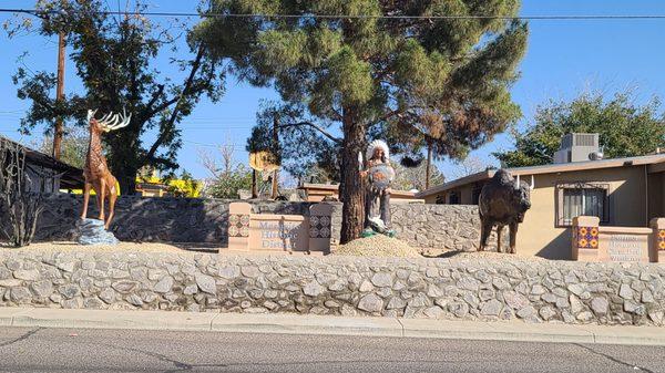
[[[551,164],[542,166],[513,167],[507,168],[513,176],[529,176],[540,174],[569,173],[585,169],[602,169],[615,167],[631,167],[648,165],[649,172],[661,172],[665,169],[665,154],[644,155],[638,157],[610,158],[600,160],[571,162],[562,164]],[[462,185],[482,182],[494,176],[495,169],[485,169],[480,173],[471,174],[448,183],[433,186],[429,189],[416,194],[416,198],[446,191]]]

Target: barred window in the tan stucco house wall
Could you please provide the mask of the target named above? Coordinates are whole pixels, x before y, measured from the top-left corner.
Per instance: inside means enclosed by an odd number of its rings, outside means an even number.
[[[560,184],[556,186],[557,225],[570,227],[576,216],[596,216],[610,221],[610,185],[596,183]]]

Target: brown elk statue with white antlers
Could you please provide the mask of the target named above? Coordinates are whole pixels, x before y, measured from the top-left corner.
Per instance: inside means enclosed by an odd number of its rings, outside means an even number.
[[[130,124],[132,115],[126,116],[123,111],[122,115],[109,113],[103,117],[95,120],[94,113],[96,110],[88,111],[88,123],[90,125],[90,143],[88,145],[88,154],[85,156],[85,167],[83,176],[85,185],[83,187],[83,213],[81,219],[88,216],[88,203],[90,200],[90,188],[94,189],[96,195],[98,207],[100,208],[99,219],[104,221],[104,228],[109,229],[111,219],[113,219],[115,200],[117,199],[117,190],[115,188],[116,179],[106,165],[106,157],[102,152],[102,133],[120,129]],[[104,200],[109,199],[109,216],[105,218]]]

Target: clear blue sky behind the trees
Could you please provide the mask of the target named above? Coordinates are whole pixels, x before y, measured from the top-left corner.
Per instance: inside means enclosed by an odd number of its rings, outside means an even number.
[[[114,3],[116,0],[109,0]],[[2,7],[30,8],[34,1],[2,1]],[[193,11],[196,1],[153,0],[154,11]],[[522,15],[560,14],[665,14],[665,1],[618,0],[525,0]],[[0,23],[10,18],[0,13]],[[521,65],[521,77],[512,87],[513,100],[521,106],[524,126],[535,107],[553,100],[570,100],[581,92],[601,90],[612,94],[626,87],[638,92],[636,100],[645,102],[656,95],[665,99],[665,19],[659,20],[532,20],[529,22],[529,48]],[[55,70],[57,39],[21,35],[8,39],[0,33],[0,134],[30,144],[40,134],[21,136],[18,123],[28,102],[16,97],[11,75],[17,58],[28,51],[25,64],[34,70]],[[166,59],[156,61],[157,68],[174,79],[178,73]],[[80,83],[70,63],[66,70],[65,91],[76,92]],[[256,89],[239,83],[231,76],[226,94],[218,103],[204,100],[193,115],[183,122],[184,146],[178,162],[195,177],[205,177],[198,163],[198,151],[214,152],[214,144],[235,144],[236,159],[246,162],[246,137],[255,121],[260,100],[276,99],[269,89]],[[150,139],[147,135],[146,139]],[[497,164],[490,153],[511,147],[508,134],[474,151],[473,156],[487,164]],[[456,166],[443,160],[439,164],[444,174],[452,176]]]

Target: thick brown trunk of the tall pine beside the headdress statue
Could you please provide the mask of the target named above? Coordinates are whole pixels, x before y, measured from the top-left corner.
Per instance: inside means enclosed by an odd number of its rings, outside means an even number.
[[[365,183],[358,174],[358,153],[365,147],[366,128],[356,121],[352,110],[344,111],[342,132],[340,199],[344,207],[340,242],[346,244],[360,237],[365,225]]]

